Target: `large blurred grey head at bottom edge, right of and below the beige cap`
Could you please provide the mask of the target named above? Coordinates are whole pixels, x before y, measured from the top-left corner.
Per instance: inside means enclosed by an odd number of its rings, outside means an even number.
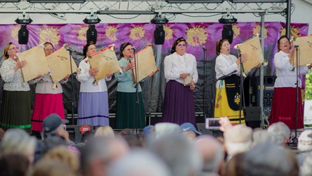
[[[261,143],[249,150],[242,166],[246,176],[289,175],[293,168],[283,147],[272,143]]]

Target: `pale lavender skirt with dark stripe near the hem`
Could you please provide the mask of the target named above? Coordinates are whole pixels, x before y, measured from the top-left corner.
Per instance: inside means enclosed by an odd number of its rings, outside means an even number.
[[[107,91],[80,92],[78,125],[109,126]]]

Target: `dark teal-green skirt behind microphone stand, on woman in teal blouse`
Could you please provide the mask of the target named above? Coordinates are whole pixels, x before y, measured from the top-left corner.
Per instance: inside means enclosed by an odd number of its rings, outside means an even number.
[[[135,129],[136,127],[136,93],[117,91],[116,129]],[[138,129],[146,126],[142,94],[139,92]]]

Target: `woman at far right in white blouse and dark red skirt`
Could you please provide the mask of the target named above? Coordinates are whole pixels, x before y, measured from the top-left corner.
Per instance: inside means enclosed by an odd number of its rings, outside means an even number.
[[[276,80],[274,83],[270,124],[283,122],[289,129],[295,129],[297,68],[291,64],[295,48],[290,46],[290,41],[286,36],[281,36],[279,41],[277,41],[277,51],[274,54]],[[311,67],[312,64],[299,66],[299,75],[309,73]],[[298,79],[297,129],[303,129],[302,82],[300,78]]]

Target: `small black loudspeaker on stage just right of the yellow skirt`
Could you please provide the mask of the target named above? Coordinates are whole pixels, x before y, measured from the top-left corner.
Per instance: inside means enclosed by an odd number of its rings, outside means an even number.
[[[246,107],[244,119],[246,125],[252,129],[260,128],[261,123],[261,108],[260,106]]]

